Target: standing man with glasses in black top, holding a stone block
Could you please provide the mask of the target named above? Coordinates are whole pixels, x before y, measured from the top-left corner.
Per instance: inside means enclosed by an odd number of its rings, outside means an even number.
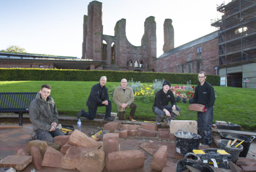
[[[197,128],[202,136],[204,145],[211,144],[212,132],[211,125],[213,121],[213,104],[215,101],[214,88],[205,81],[205,72],[198,74],[199,84],[196,86],[194,97],[191,103],[203,104],[204,112],[197,112]]]

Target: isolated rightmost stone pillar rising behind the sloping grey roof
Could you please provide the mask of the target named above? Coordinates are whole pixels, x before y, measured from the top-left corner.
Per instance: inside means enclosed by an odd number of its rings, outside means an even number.
[[[164,20],[164,53],[170,49],[174,49],[174,29],[172,26],[172,20],[166,18]]]

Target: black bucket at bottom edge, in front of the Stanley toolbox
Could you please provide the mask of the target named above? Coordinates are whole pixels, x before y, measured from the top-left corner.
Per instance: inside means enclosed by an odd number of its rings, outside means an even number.
[[[192,159],[188,159],[191,156]],[[176,164],[176,172],[183,172],[187,170],[186,166],[192,166],[201,172],[214,172],[214,170],[207,164],[203,163],[200,158],[194,153],[188,153],[183,160],[179,160]]]

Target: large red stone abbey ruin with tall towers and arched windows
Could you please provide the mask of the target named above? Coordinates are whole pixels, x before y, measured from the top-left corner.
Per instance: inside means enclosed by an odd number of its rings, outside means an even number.
[[[122,18],[115,25],[114,36],[103,35],[102,3],[90,2],[88,16],[84,16],[82,59],[106,61],[97,69],[154,71],[153,60],[157,58],[155,18],[146,18],[141,46],[134,46],[127,40],[125,26],[126,20]]]

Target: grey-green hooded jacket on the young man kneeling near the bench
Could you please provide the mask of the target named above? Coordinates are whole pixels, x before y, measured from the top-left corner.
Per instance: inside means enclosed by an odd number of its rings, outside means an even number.
[[[49,95],[46,101],[41,98],[40,92],[29,104],[29,119],[33,124],[33,130],[42,129],[49,131],[52,123],[58,124],[58,111],[53,98]]]

